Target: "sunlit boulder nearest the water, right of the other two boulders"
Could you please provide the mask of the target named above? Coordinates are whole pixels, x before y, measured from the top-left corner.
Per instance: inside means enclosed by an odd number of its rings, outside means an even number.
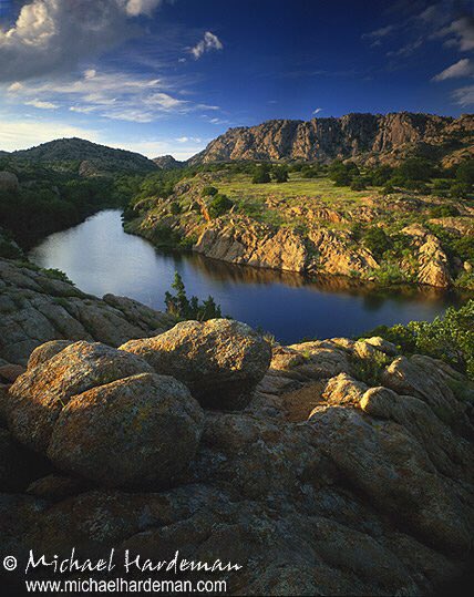
[[[120,350],[140,356],[156,373],[183,381],[203,406],[218,410],[245,408],[271,360],[270,344],[260,334],[228,319],[184,321]]]

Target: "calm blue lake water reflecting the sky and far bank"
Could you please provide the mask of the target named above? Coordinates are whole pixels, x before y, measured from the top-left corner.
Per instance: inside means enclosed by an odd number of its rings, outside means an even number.
[[[296,274],[233,266],[198,255],[156,250],[122,229],[121,212],[100,212],[55,233],[32,249],[41,267],[59,268],[85,292],[132,297],[164,308],[175,270],[188,296],[212,295],[223,315],[261,327],[286,343],[302,338],[352,336],[380,323],[432,320],[458,296],[435,289],[380,290],[328,277],[317,282]]]

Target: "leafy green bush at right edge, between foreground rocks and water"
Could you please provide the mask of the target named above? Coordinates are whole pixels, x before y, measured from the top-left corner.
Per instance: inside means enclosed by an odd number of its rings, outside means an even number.
[[[364,336],[381,336],[408,354],[419,352],[441,359],[474,379],[474,300],[461,309],[450,307],[444,317],[436,317],[431,323],[380,326]]]

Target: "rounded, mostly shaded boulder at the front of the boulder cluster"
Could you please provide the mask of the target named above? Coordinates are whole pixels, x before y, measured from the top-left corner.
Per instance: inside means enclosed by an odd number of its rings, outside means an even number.
[[[194,457],[203,426],[203,410],[186,385],[142,373],[73,397],[48,456],[102,486],[169,485]]]

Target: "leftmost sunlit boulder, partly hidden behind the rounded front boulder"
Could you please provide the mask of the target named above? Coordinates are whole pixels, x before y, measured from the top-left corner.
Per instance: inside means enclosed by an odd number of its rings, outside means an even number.
[[[74,342],[28,369],[11,387],[7,404],[10,431],[44,454],[56,419],[73,395],[143,372],[152,369],[134,354],[97,342]]]

